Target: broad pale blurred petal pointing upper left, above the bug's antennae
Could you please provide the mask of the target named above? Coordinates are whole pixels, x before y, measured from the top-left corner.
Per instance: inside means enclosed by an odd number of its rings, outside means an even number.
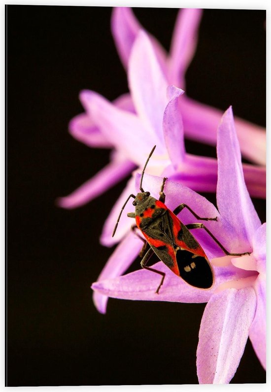
[[[80,99],[104,137],[140,166],[153,147],[153,135],[144,129],[140,119],[94,91],[84,90]],[[161,153],[159,145],[157,150]]]

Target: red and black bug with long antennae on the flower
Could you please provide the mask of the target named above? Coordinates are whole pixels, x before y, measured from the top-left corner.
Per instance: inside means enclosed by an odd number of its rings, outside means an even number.
[[[156,253],[161,261],[163,261],[169,269],[177,276],[181,277],[186,283],[201,289],[209,289],[214,284],[214,272],[212,266],[195,237],[190,233],[191,229],[204,229],[216,244],[227,255],[241,256],[244,253],[230,253],[223,245],[214,237],[214,235],[204,226],[203,223],[192,223],[184,225],[176,216],[184,208],[187,208],[199,220],[217,220],[214,218],[203,218],[196,214],[186,204],[180,204],[173,212],[165,205],[166,195],[164,186],[167,178],[163,179],[159,200],[150,196],[150,192],[145,192],[142,188],[142,179],[148,164],[148,161],[156,146],[151,150],[148,159],[143,168],[139,190],[137,195],[131,194],[124,203],[118,216],[117,223],[113,230],[114,236],[120,216],[129,199],[133,197],[135,200],[135,213],[128,213],[131,218],[135,218],[136,226],[141,231],[146,241],[140,254],[145,255],[141,260],[141,267],[149,271],[162,275],[160,285],[157,287],[156,293],[159,293],[160,287],[163,285],[166,274],[154,268],[147,267],[146,264],[151,256]],[[135,226],[135,227],[136,227]],[[141,238],[141,237],[140,237]],[[147,249],[149,245],[149,249]]]

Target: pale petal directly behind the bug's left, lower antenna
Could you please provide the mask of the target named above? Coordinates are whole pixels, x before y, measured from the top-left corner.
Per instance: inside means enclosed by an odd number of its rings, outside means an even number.
[[[105,220],[100,239],[102,245],[111,247],[118,243],[131,230],[131,226],[135,225],[135,220],[127,216],[127,213],[131,213],[135,210],[132,204],[133,199],[131,199],[125,206],[116,233],[114,237],[112,237],[113,229],[121,212],[122,206],[131,193],[135,194],[135,178],[133,177],[127,182],[122,194],[118,197],[114,207]]]

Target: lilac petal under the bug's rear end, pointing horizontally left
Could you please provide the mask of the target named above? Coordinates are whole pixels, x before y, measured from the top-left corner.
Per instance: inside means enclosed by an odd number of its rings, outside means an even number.
[[[127,251],[127,249],[124,249],[124,252]],[[166,273],[165,281],[160,288],[159,294],[156,294],[155,291],[161,281],[161,276],[144,269],[116,277],[115,279],[103,281],[100,279],[99,282],[92,285],[92,289],[102,295],[119,299],[203,303],[210,299],[219,285],[247,276],[246,271],[243,272],[234,266],[226,268],[214,267],[214,286],[210,290],[202,290],[185,283],[161,261],[154,264],[153,268]]]

